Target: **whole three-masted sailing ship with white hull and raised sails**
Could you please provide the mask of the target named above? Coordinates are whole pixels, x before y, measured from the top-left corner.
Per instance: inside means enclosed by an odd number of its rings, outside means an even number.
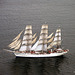
[[[22,34],[23,38],[21,39]],[[56,57],[69,51],[62,49],[61,42],[61,28],[56,30],[55,35],[51,33],[48,36],[48,25],[44,24],[37,40],[36,33],[32,35],[32,26],[27,25],[8,45],[11,49],[8,51],[13,52],[16,57]]]

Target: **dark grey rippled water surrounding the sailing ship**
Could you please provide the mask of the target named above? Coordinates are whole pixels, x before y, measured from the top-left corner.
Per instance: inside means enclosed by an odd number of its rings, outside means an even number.
[[[26,25],[40,34],[47,22],[49,34],[60,26],[63,57],[16,58],[4,51]],[[75,0],[0,0],[0,75],[75,75]]]

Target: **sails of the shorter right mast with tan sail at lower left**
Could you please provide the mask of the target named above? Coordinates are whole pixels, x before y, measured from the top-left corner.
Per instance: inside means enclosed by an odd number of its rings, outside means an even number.
[[[57,48],[59,48],[61,46],[61,29],[60,28],[56,30],[54,40],[47,47],[47,49],[52,48],[53,46],[57,46]]]

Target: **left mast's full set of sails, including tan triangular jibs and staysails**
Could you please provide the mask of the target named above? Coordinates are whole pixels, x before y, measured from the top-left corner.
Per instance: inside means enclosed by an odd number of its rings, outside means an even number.
[[[21,35],[23,35],[23,39],[21,39]],[[24,30],[22,30],[13,40],[12,43],[8,45],[8,47],[14,51],[30,51],[32,44],[36,42],[36,33],[32,36],[32,26],[27,25]]]

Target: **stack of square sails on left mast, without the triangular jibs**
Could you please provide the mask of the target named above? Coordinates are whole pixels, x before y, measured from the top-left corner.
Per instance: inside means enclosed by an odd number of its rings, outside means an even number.
[[[20,51],[30,51],[32,47],[32,26],[27,25],[25,28],[22,45]]]

